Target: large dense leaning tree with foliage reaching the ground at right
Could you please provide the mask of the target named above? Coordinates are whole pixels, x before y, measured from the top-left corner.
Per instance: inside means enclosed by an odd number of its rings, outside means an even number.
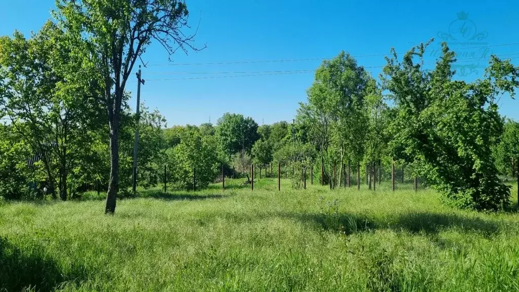
[[[409,50],[403,63],[394,50],[387,58],[384,81],[398,109],[393,143],[404,145],[405,156],[455,206],[506,206],[509,188],[497,177],[490,145],[502,131],[495,97],[513,96],[519,70],[493,57],[484,79],[453,81],[454,52],[443,43],[436,68],[423,71],[426,46]]]

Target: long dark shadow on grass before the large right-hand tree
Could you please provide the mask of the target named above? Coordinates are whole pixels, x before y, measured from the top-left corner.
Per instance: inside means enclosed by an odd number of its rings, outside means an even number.
[[[364,215],[342,213],[291,214],[288,217],[303,222],[310,222],[319,229],[346,235],[371,230],[407,231],[414,234],[435,235],[449,228],[456,228],[465,232],[476,232],[486,237],[499,232],[499,224],[495,221],[430,212],[395,215],[395,217],[390,217],[388,221]]]

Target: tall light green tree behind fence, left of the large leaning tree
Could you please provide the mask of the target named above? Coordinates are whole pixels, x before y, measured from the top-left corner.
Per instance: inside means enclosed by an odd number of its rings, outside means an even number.
[[[323,61],[307,90],[307,103],[300,103],[297,122],[306,126],[321,163],[329,169],[337,164],[341,167],[346,157],[362,157],[366,132],[364,99],[370,82],[372,78],[364,68],[343,51],[332,60]]]

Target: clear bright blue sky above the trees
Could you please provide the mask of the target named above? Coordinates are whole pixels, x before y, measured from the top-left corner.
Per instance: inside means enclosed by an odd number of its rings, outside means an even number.
[[[166,51],[152,45],[143,59],[146,84],[141,98],[158,108],[168,126],[200,124],[225,112],[252,116],[257,123],[291,120],[298,102],[306,100],[312,72],[249,77],[206,78],[229,75],[257,75],[263,72],[313,70],[320,60],[291,62],[241,61],[330,58],[340,50],[358,57],[373,76],[385,64],[383,56],[391,47],[404,52],[413,44],[434,37],[431,50],[448,36],[459,52],[464,70],[457,78],[467,81],[481,77],[490,53],[514,58],[519,64],[519,2],[500,1],[201,1],[187,0],[190,23],[199,27],[195,45],[199,52],[177,52],[172,64],[231,62],[231,64],[165,65]],[[0,35],[15,29],[25,34],[37,31],[50,17],[53,0],[3,1]],[[464,11],[464,14],[459,12]],[[463,33],[462,33],[463,32]],[[479,38],[477,37],[479,36]],[[471,39],[472,38],[472,39]],[[489,46],[482,48],[483,46]],[[515,55],[514,55],[515,54]],[[364,56],[364,57],[362,57]],[[428,60],[434,61],[433,54]],[[429,66],[430,67],[430,66]],[[204,73],[204,74],[193,74]],[[193,78],[198,79],[178,79]],[[156,80],[156,79],[162,79]],[[176,80],[163,80],[176,79]],[[136,83],[128,90],[135,96]],[[132,106],[135,99],[131,100]],[[503,115],[519,120],[519,100],[503,97]]]

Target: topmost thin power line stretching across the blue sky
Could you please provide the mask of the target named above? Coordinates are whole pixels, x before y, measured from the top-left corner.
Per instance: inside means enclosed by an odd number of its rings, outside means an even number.
[[[459,48],[458,50],[490,48],[490,47],[503,47],[503,46],[513,46],[513,45],[519,45],[519,43],[498,44],[498,45],[488,45],[488,46],[478,46],[478,47],[467,47],[467,48]],[[434,50],[427,50],[426,52],[435,52],[435,51],[441,51],[441,50],[442,49],[434,49]],[[397,53],[397,55],[402,55],[402,54],[405,54],[405,53]],[[392,54],[356,55],[356,56],[352,56],[352,57],[353,58],[362,58],[362,57],[383,57],[383,56],[392,56]],[[208,63],[149,64],[149,65],[147,65],[147,67],[188,66],[188,65],[227,65],[227,64],[248,64],[248,63],[280,63],[280,62],[317,61],[317,60],[327,60],[327,59],[332,59],[332,58],[333,57],[328,57],[328,58],[307,58],[307,59],[281,59],[281,60],[252,60],[252,61],[208,62]]]

